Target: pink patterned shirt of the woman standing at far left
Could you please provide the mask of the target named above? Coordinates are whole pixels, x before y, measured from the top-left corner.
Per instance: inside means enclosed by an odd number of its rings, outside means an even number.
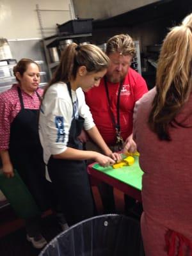
[[[19,84],[13,84],[10,90],[0,93],[0,150],[7,150],[10,141],[10,126],[17,114],[20,112],[20,100],[17,91]],[[32,95],[22,91],[24,108],[39,109],[40,100],[34,92]],[[38,94],[42,96],[43,90],[38,88]]]

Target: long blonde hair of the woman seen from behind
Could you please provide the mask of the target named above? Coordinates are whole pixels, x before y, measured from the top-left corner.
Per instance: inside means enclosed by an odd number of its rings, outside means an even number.
[[[157,94],[148,124],[160,140],[171,140],[169,127],[174,125],[191,93],[192,13],[175,26],[164,39],[156,74]],[[182,126],[182,124],[179,124]]]

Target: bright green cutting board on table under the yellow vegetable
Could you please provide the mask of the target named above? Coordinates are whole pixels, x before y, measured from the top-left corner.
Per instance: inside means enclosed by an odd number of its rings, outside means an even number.
[[[134,164],[131,166],[123,166],[122,168],[113,169],[112,166],[102,167],[99,164],[94,164],[93,168],[99,172],[105,173],[110,177],[132,186],[133,188],[141,190],[141,180],[143,171],[138,162],[138,156],[134,156]]]

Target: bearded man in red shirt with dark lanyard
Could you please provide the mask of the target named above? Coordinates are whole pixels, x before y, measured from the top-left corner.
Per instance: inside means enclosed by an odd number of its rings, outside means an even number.
[[[93,120],[102,138],[113,151],[136,151],[132,140],[132,114],[135,102],[148,92],[141,75],[130,65],[136,53],[134,42],[129,35],[116,35],[107,42],[106,54],[110,58],[108,72],[99,87],[85,93],[86,104],[90,107]],[[99,150],[93,141],[86,142],[87,150]],[[107,184],[99,186],[104,212],[115,212],[113,188]],[[129,198],[127,205],[133,200]],[[128,206],[129,207],[129,206]]]

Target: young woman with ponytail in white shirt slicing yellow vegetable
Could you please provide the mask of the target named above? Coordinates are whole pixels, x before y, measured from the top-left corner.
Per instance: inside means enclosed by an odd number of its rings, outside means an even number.
[[[68,225],[94,214],[84,160],[108,166],[120,159],[100,136],[84,101],[83,90],[99,86],[108,63],[108,56],[95,45],[68,45],[42,101],[39,124],[44,161]],[[83,127],[106,156],[82,150],[77,137]]]

